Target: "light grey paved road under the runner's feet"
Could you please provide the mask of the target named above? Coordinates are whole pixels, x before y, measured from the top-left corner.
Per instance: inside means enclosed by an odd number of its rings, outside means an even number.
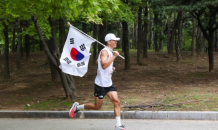
[[[128,130],[218,130],[217,121],[122,120]],[[0,130],[114,130],[115,119],[0,119]]]

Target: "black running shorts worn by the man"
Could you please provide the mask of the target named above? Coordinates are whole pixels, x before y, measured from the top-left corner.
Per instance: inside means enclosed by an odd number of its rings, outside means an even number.
[[[103,99],[104,96],[110,91],[117,91],[114,88],[113,84],[110,87],[101,87],[101,86],[98,86],[97,84],[95,84],[94,96],[98,97],[99,99]]]

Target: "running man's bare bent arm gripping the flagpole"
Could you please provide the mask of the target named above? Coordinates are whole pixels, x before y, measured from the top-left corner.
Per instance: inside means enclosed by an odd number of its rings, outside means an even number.
[[[101,59],[101,65],[103,69],[106,69],[110,64],[115,60],[115,58],[119,55],[118,51],[114,51],[113,56],[108,59],[108,52],[106,50],[101,51],[100,59]]]

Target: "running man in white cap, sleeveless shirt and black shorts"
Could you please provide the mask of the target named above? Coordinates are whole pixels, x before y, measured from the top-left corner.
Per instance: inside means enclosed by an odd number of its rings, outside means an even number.
[[[111,50],[117,47],[117,41],[119,40],[120,38],[117,38],[112,33],[109,33],[105,36],[105,42],[107,42],[107,47]],[[97,60],[98,69],[94,85],[95,104],[86,103],[83,105],[79,105],[78,102],[75,102],[70,109],[69,114],[70,117],[73,118],[74,115],[81,109],[99,110],[102,106],[104,97],[107,95],[114,105],[114,114],[116,116],[115,130],[126,130],[124,126],[121,125],[120,100],[111,80],[112,73],[115,71],[115,67],[113,67],[113,62],[115,58],[119,55],[119,52],[111,52],[108,48],[105,47],[101,50]]]

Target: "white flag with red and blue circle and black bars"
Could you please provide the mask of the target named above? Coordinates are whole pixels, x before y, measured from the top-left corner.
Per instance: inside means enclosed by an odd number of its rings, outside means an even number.
[[[60,58],[64,73],[83,77],[88,70],[91,44],[95,42],[70,26],[67,40]]]

